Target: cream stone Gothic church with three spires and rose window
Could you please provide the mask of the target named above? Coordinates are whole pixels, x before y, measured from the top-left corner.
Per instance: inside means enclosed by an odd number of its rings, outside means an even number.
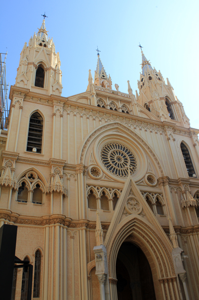
[[[141,59],[135,95],[129,81],[128,94],[113,88],[98,54],[86,92],[65,98],[45,20],[22,49],[1,131],[0,225],[18,226],[35,300],[199,299],[199,130]],[[16,270],[12,300],[25,300]]]

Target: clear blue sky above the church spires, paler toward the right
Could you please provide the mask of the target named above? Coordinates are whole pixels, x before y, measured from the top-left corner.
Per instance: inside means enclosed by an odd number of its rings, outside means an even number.
[[[62,96],[86,91],[89,69],[97,65],[97,46],[113,87],[133,93],[141,71],[139,42],[151,66],[168,77],[178,99],[199,128],[199,2],[194,0],[10,1],[1,14],[0,52],[8,50],[7,81],[15,83],[20,52],[41,26],[46,27],[59,51]],[[7,47],[7,48],[6,48]]]

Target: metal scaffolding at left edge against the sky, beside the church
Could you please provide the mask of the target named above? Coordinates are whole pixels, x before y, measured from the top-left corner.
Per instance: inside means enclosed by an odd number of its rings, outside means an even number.
[[[6,83],[6,53],[0,53],[0,129],[8,129],[8,88]]]

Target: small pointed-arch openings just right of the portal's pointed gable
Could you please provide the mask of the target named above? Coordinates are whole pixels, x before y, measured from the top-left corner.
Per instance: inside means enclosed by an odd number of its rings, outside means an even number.
[[[154,215],[166,215],[165,203],[162,194],[142,192],[142,195]]]

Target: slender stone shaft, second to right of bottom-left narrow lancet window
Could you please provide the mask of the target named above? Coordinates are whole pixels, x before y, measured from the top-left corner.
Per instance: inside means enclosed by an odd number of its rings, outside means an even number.
[[[56,230],[56,245],[55,245],[55,299],[59,299],[59,284],[60,284],[60,274],[59,274],[59,243],[60,243],[60,230],[59,230],[59,225],[55,226],[55,230]]]

